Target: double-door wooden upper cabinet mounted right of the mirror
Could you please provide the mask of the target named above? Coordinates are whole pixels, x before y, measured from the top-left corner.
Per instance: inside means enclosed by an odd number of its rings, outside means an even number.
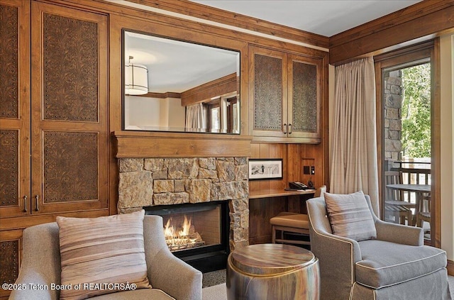
[[[323,60],[250,46],[254,140],[321,142]]]

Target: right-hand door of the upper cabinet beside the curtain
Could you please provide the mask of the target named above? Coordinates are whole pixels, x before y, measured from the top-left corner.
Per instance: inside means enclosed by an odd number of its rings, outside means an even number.
[[[322,60],[289,55],[289,137],[320,142]]]

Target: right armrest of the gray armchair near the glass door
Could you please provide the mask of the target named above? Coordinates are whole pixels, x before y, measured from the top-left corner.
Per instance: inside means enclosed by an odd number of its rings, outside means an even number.
[[[419,227],[375,220],[375,229],[377,240],[412,246],[421,246],[424,243],[423,229]]]

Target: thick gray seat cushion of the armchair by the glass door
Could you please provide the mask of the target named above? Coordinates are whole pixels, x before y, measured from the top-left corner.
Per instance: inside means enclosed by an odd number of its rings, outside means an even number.
[[[406,282],[446,266],[446,252],[429,246],[410,246],[383,240],[363,240],[362,260],[356,262],[356,282],[380,289]]]

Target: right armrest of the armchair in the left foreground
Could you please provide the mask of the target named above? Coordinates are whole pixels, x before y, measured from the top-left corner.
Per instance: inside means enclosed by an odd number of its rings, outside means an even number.
[[[202,274],[172,255],[167,248],[160,250],[148,264],[150,284],[178,300],[201,300]]]

